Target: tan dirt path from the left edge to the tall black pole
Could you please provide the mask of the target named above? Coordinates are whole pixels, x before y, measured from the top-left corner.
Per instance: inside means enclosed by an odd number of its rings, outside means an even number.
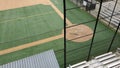
[[[63,37],[64,37],[64,35],[61,34],[61,35],[58,35],[58,36],[49,37],[49,38],[46,38],[46,39],[43,39],[43,40],[38,40],[38,41],[35,41],[35,42],[32,42],[32,43],[27,43],[27,44],[20,45],[20,46],[17,46],[17,47],[12,47],[12,48],[0,51],[0,55],[4,55],[4,54],[8,54],[8,53],[15,52],[15,51],[18,51],[18,50],[22,50],[22,49],[25,49],[25,48],[37,46],[39,44],[54,41],[54,40],[57,40],[57,39],[63,38]]]

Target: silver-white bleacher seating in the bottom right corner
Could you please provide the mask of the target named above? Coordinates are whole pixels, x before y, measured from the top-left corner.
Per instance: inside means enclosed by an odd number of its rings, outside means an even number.
[[[120,68],[120,52],[105,53],[95,57],[90,61],[83,61],[68,68]]]

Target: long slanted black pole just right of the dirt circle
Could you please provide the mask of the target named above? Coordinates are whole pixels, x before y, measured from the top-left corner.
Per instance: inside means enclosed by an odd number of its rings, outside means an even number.
[[[100,15],[101,7],[102,7],[102,2],[103,2],[103,0],[101,0],[101,2],[100,2],[100,7],[99,7],[99,11],[98,11],[98,15],[97,15],[97,19],[96,19],[95,27],[94,27],[93,37],[92,37],[92,41],[91,41],[91,44],[90,44],[90,49],[89,49],[89,53],[88,53],[88,57],[87,57],[87,61],[89,61],[89,59],[90,59],[91,50],[92,50],[93,43],[94,43],[94,38],[95,38],[95,33],[96,33],[96,29],[97,29],[98,21],[99,21],[99,15]]]

